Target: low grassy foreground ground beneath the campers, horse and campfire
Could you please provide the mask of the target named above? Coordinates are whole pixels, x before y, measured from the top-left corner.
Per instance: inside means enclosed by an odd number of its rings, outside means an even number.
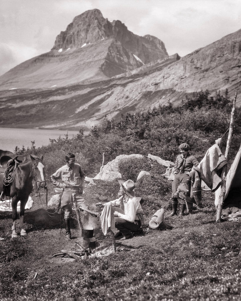
[[[118,240],[116,254],[81,260],[51,258],[76,248],[78,224],[72,219],[74,239],[65,241],[60,214],[50,217],[33,199],[25,214],[25,237],[12,240],[11,214],[0,214],[1,301],[241,300],[240,222],[216,224],[210,192],[203,194],[207,207],[201,212],[167,219],[173,230]],[[146,212],[148,222],[151,211]],[[100,235],[96,232],[104,248],[110,241]]]

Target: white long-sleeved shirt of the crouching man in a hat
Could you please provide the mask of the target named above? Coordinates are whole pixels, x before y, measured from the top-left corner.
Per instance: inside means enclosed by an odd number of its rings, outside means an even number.
[[[112,203],[112,206],[116,207],[122,207],[123,204],[124,213],[118,212],[118,217],[121,217],[122,219],[132,223],[135,220],[139,219],[136,213],[141,212],[142,207],[139,200],[136,197],[125,198],[121,196],[119,199],[113,200],[110,203]]]

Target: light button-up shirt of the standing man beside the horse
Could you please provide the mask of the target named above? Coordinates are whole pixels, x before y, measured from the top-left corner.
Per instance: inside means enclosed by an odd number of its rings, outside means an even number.
[[[81,169],[80,164],[74,163],[73,167],[67,164],[60,167],[54,174],[50,176],[51,182],[59,188],[82,188],[84,184],[85,173]],[[62,181],[59,182],[59,180]],[[69,183],[74,184],[69,185]]]

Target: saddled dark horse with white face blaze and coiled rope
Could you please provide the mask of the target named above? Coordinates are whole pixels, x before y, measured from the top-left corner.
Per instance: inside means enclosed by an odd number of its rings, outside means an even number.
[[[11,160],[12,159],[12,160]],[[8,161],[7,161],[8,160]],[[11,161],[9,161],[11,160]],[[44,165],[42,163],[43,156],[40,158],[33,155],[16,155],[8,154],[0,158],[0,163],[11,162],[15,175],[12,174],[11,182],[7,183],[4,187],[5,196],[11,197],[12,199],[12,238],[17,237],[16,232],[16,219],[17,219],[17,203],[20,201],[20,235],[26,235],[27,232],[23,228],[23,217],[24,208],[27,203],[29,194],[33,189],[33,178],[36,179],[40,188],[46,187]],[[3,186],[3,173],[0,173],[0,190],[2,191]],[[39,180],[41,178],[41,180]]]

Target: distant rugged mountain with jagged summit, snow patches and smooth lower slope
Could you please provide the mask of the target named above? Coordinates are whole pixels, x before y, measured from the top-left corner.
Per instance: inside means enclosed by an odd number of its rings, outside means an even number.
[[[94,9],[75,17],[51,51],[0,76],[0,90],[101,81],[167,56],[158,38],[137,36],[121,21],[109,22]]]

